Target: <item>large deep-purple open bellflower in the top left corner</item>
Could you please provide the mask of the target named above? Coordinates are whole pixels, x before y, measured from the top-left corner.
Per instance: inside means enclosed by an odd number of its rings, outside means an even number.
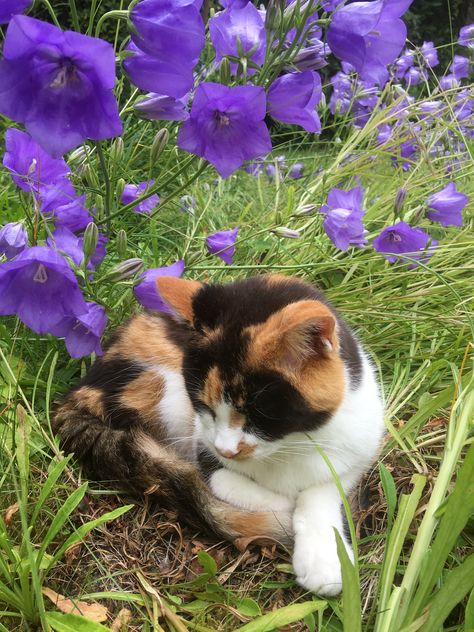
[[[0,112],[24,123],[55,157],[86,138],[122,133],[111,44],[23,15],[10,22],[0,62]]]

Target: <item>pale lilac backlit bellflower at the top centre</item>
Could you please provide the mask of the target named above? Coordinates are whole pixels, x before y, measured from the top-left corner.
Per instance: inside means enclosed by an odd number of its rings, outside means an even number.
[[[258,9],[251,3],[243,8],[232,6],[226,11],[220,11],[209,20],[209,33],[212,45],[216,49],[216,61],[225,56],[241,57],[257,65],[263,64],[266,51],[265,24]],[[237,64],[231,63],[235,74]],[[255,69],[249,68],[247,74]]]

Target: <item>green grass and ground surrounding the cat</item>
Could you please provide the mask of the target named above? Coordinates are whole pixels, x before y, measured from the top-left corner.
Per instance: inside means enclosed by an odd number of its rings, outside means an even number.
[[[375,113],[363,130],[341,124],[320,141],[295,135],[281,145],[275,153],[305,163],[306,176],[298,181],[238,173],[215,182],[210,169],[171,144],[154,162],[156,127],[137,123],[126,108],[123,153],[103,148],[110,187],[96,150],[85,164],[76,161],[76,183],[97,204],[99,221],[106,223],[104,198],[111,204],[109,255],[97,278],[85,284],[86,295],[108,307],[111,329],[136,309],[133,281],[110,282],[104,274],[126,258],[141,257],[147,267],[184,258],[187,277],[209,281],[262,271],[300,275],[325,290],[372,353],[387,436],[380,462],[351,499],[358,563],[353,567],[342,549],[343,596],[321,600],[295,584],[288,552],[272,544],[238,550],[177,524],[173,514],[152,514],[146,505],[85,481],[61,454],[50,417],[53,402],[90,359],[68,359],[61,341],[3,319],[0,630],[474,629],[472,144],[450,176],[470,195],[463,228],[430,225],[422,205],[447,181],[446,158],[433,157],[432,145],[441,138],[450,158],[457,151],[452,141],[461,132],[449,123],[454,96],[443,95],[444,116],[429,135],[419,133],[420,157],[408,171],[394,168],[388,148],[374,144],[386,111]],[[416,105],[410,114],[416,116]],[[399,142],[410,133],[412,126],[402,127]],[[148,218],[123,209],[117,200],[124,182],[151,177],[162,197],[158,212]],[[304,205],[322,204],[334,186],[349,188],[359,180],[369,239],[400,217],[430,227],[440,246],[426,265],[391,265],[372,248],[339,252],[321,216],[301,214]],[[44,234],[47,225],[4,171],[0,184],[2,218],[26,216]],[[408,194],[397,215],[401,186]],[[195,196],[193,214],[179,210],[177,191]],[[224,266],[206,253],[205,236],[235,225],[234,264]],[[282,226],[299,230],[300,238],[272,232]],[[120,255],[119,229],[127,233]]]

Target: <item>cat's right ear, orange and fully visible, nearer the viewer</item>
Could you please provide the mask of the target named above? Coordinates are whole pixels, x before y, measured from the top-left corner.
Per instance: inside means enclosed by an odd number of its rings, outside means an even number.
[[[253,331],[253,355],[260,362],[299,371],[311,359],[337,353],[335,316],[319,301],[291,303]]]

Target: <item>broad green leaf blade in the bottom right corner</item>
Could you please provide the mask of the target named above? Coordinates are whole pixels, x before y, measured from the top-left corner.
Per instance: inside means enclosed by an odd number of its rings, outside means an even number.
[[[474,587],[474,553],[446,576],[443,586],[428,604],[429,616],[423,632],[438,632],[451,610]],[[469,628],[466,625],[466,628]]]

